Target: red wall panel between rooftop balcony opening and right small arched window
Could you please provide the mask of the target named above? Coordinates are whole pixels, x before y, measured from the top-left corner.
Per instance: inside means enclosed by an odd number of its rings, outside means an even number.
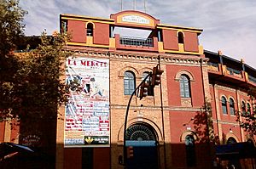
[[[178,50],[177,31],[163,30],[163,43],[166,50]]]

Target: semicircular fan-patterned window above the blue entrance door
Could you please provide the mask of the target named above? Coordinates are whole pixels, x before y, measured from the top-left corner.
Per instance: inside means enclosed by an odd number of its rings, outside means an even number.
[[[135,124],[127,129],[126,140],[155,140],[154,132],[143,124]]]

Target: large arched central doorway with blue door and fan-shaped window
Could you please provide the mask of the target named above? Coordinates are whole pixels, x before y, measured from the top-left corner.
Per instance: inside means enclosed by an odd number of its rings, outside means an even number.
[[[136,123],[127,129],[126,146],[133,147],[133,157],[127,159],[127,168],[157,169],[158,138],[154,128],[146,123]]]

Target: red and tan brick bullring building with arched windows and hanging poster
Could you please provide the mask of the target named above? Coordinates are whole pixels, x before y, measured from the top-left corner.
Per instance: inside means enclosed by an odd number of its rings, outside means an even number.
[[[72,35],[66,82],[81,90],[71,88],[59,108],[65,118],[56,121],[55,168],[256,167],[247,150],[256,137],[236,116],[254,115],[247,93],[256,70],[204,50],[203,30],[134,10],[110,19],[61,14],[60,30]],[[156,66],[160,85],[143,99],[132,95]]]

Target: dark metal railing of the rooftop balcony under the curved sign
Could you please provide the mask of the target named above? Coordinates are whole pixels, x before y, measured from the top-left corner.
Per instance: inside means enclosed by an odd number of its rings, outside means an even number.
[[[153,47],[152,38],[140,38],[140,37],[120,37],[120,44],[132,45],[132,46],[143,46]]]

